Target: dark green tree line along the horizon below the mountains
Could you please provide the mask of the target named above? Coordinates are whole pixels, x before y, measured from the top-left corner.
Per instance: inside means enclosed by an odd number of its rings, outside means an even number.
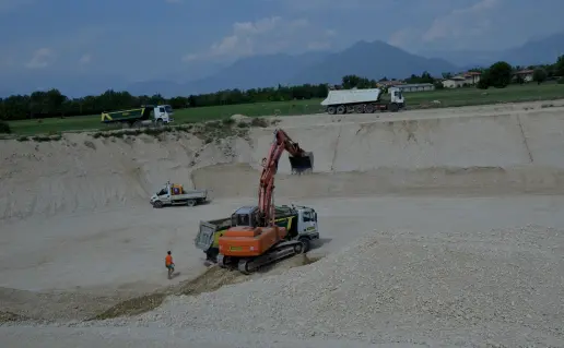
[[[554,64],[529,67],[534,69],[533,80],[542,83],[547,79],[564,76],[564,56],[559,57]],[[473,71],[481,71],[482,77],[478,84],[479,88],[505,87],[509,83],[522,83],[515,80],[515,71],[522,67],[512,67],[507,62],[496,62],[490,68],[477,68]],[[450,73],[444,73],[443,77],[448,79]],[[564,77],[563,77],[564,79]],[[31,95],[12,95],[8,98],[0,98],[0,120],[23,120],[49,117],[72,117],[82,115],[96,115],[103,111],[137,108],[142,105],[168,104],[174,109],[209,107],[221,105],[236,105],[249,103],[285,101],[296,99],[325,98],[330,88],[371,88],[388,81],[383,77],[379,81],[357,75],[345,75],[340,86],[327,84],[304,84],[298,86],[282,86],[271,88],[225,89],[216,93],[178,96],[164,98],[162,95],[132,96],[128,92],[116,92],[108,89],[98,96],[86,96],[82,98],[69,98],[58,89],[37,91]],[[393,81],[393,80],[392,80]],[[443,85],[439,79],[434,79],[428,72],[421,75],[411,75],[403,80],[406,83],[432,83],[437,88]],[[561,83],[564,81],[561,79]]]

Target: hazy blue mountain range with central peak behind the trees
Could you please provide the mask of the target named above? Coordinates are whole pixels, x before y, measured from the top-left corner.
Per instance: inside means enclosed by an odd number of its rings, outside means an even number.
[[[403,79],[427,71],[440,76],[505,60],[514,65],[553,63],[564,53],[564,33],[527,41],[501,51],[434,51],[411,53],[384,41],[359,41],[337,52],[298,56],[269,55],[244,58],[203,79],[186,83],[146,81],[127,87],[132,94],[190,95],[221,89],[271,87],[304,83],[339,83],[343,75],[356,74],[379,80]],[[440,58],[437,58],[440,57]]]

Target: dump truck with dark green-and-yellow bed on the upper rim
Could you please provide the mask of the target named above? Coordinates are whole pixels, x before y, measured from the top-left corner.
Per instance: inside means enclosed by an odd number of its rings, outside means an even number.
[[[174,121],[173,108],[169,105],[145,105],[139,109],[102,112],[102,123],[121,123],[126,127],[140,128],[156,124],[158,127]]]

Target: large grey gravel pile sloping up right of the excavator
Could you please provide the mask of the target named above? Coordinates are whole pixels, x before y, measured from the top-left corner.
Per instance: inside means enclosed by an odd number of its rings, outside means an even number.
[[[373,343],[564,346],[564,232],[374,232],[339,253],[137,317],[168,326]]]

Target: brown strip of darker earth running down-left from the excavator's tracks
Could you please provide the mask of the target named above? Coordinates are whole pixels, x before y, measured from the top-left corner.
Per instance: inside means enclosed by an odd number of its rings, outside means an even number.
[[[282,262],[275,263],[268,267],[262,267],[257,273],[250,276],[246,276],[235,269],[224,269],[214,265],[192,280],[187,280],[176,286],[171,286],[169,288],[163,291],[153,292],[122,301],[111,307],[110,309],[95,315],[94,317],[87,319],[86,321],[138,315],[154,310],[163,303],[164,299],[167,296],[197,296],[202,292],[211,292],[220,289],[225,285],[244,283],[249,279],[255,279],[257,278],[257,276],[260,277],[262,275],[269,275],[270,272],[274,271],[283,272],[290,268],[309,265],[319,261],[321,257],[309,257],[307,254],[301,254],[286,259]],[[274,273],[274,275],[275,274],[277,273]]]

